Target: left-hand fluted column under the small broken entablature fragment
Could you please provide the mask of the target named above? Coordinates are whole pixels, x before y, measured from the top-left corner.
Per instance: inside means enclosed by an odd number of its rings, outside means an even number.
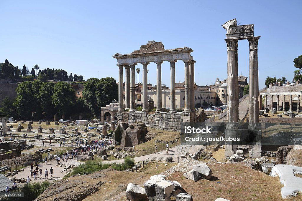
[[[238,117],[238,64],[236,62],[236,49],[238,40],[225,39],[227,46],[227,103],[228,103],[228,122],[236,123]]]

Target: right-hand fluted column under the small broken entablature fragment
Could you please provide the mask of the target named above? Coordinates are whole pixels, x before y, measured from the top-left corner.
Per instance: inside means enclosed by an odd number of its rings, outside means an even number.
[[[259,123],[258,39],[249,39],[249,122],[253,125]]]

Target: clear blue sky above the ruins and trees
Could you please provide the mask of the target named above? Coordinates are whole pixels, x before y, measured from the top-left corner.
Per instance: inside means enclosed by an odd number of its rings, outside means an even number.
[[[0,1],[0,62],[19,68],[64,69],[68,74],[114,77],[115,53],[128,54],[149,40],[165,49],[190,47],[195,82],[213,84],[227,77],[227,50],[221,25],[233,18],[255,24],[259,88],[267,76],[293,79],[293,60],[302,54],[302,1]],[[239,75],[249,77],[249,44],[239,41]],[[142,65],[136,68],[142,70]],[[156,84],[156,64],[148,65]],[[170,64],[162,64],[162,84],[170,86]],[[137,74],[136,74],[137,80]],[[142,73],[139,74],[139,81]],[[184,63],[176,63],[176,82]]]

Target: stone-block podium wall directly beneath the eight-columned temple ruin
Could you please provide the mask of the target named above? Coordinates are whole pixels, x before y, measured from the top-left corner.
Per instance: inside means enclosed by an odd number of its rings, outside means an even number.
[[[134,112],[119,112],[117,114],[118,123],[121,124],[125,122],[124,115],[128,114],[128,123],[145,123],[147,127],[158,128],[162,130],[170,131],[181,131],[182,125],[187,122],[196,122],[196,113],[195,112],[160,112],[154,114],[148,114],[143,111],[134,111]]]

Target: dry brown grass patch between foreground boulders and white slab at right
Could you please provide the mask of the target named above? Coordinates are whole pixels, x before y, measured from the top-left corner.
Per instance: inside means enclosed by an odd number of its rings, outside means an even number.
[[[263,172],[244,166],[244,164],[244,162],[223,165],[208,164],[213,171],[211,181],[202,179],[194,182],[186,179],[182,172],[176,172],[168,179],[182,184],[194,200],[213,201],[218,197],[232,201],[282,200],[280,189],[283,186],[278,177],[269,177]],[[302,200],[302,197],[300,195],[287,200],[298,201]]]

